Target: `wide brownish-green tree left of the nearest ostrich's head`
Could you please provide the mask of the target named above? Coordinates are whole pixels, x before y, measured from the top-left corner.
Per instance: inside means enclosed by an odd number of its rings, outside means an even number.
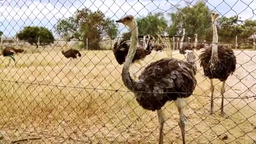
[[[83,41],[84,46],[87,38],[90,49],[100,49],[99,42],[103,37],[114,39],[117,35],[114,20],[106,18],[99,10],[93,12],[89,9],[77,10],[73,17],[59,20],[55,31],[67,40],[76,38]]]

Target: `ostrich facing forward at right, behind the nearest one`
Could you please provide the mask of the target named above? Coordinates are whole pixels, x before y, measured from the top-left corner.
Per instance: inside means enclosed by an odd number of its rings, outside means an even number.
[[[219,14],[212,14],[212,28],[213,28],[213,41],[211,47],[206,49],[199,55],[200,66],[203,67],[204,75],[211,80],[211,109],[210,113],[213,113],[213,78],[217,78],[222,82],[221,86],[221,114],[227,117],[223,111],[223,100],[225,93],[225,82],[228,76],[233,74],[236,69],[236,57],[234,51],[223,45],[217,45],[218,34],[216,19]]]

